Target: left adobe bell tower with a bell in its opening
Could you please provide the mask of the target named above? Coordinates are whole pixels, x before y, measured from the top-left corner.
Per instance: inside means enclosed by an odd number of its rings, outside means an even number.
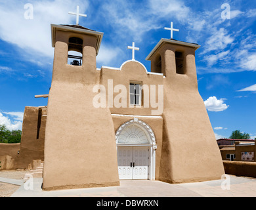
[[[43,189],[119,185],[112,116],[93,106],[96,54],[103,33],[51,25],[53,78],[45,129]],[[75,51],[81,56],[70,56]],[[68,58],[75,59],[68,62]]]

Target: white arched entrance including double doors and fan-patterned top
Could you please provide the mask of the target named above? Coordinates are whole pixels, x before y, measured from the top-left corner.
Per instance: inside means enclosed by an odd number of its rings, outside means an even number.
[[[116,131],[119,179],[155,179],[156,137],[151,127],[134,117]]]

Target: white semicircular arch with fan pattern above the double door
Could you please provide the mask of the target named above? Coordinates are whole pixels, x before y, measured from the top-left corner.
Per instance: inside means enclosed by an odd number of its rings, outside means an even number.
[[[127,129],[133,125],[140,128],[140,129],[134,129],[134,132],[135,132],[134,134],[132,133],[133,131],[129,132],[131,129]],[[140,132],[141,130],[143,132]],[[125,135],[123,133],[125,133]],[[155,134],[154,134],[154,131],[152,130],[152,128],[147,123],[138,119],[137,117],[134,117],[130,121],[123,123],[117,129],[116,144],[119,143],[118,142],[119,138],[124,139],[125,137],[128,137],[129,135],[136,135],[137,138],[139,138],[139,140],[142,142],[142,144],[145,143],[145,144],[156,145],[156,137],[155,137]],[[150,140],[150,142],[146,142],[147,139]]]

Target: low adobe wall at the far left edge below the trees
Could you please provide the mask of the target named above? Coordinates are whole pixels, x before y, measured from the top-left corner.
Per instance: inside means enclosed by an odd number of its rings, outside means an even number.
[[[20,143],[0,144],[0,170],[15,169],[15,162],[19,158],[19,150]]]

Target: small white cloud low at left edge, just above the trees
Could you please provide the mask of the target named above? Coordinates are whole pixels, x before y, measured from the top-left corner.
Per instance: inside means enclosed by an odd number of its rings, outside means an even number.
[[[9,119],[9,117],[3,116],[3,114],[1,114],[0,112],[0,125],[5,125],[7,127],[7,129],[9,129],[10,131],[13,130],[22,130],[22,121],[20,121],[21,119],[21,112],[9,112],[12,113],[11,115],[14,116],[16,119],[15,121],[11,121],[11,119]],[[23,117],[22,117],[23,120]]]

